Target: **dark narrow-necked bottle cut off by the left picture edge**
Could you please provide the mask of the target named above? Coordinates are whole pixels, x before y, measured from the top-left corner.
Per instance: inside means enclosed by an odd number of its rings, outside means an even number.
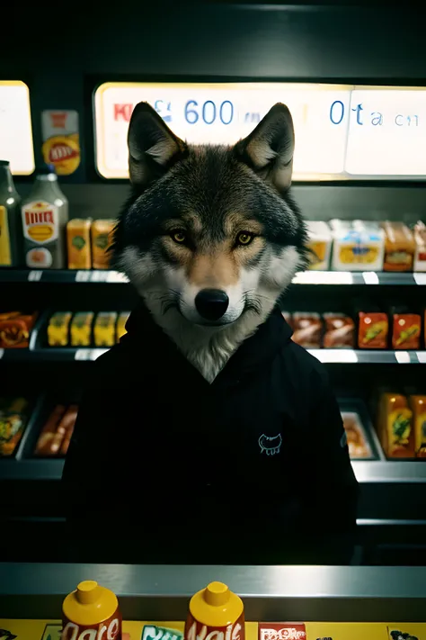
[[[9,161],[0,160],[0,266],[19,266],[22,261],[20,204]]]

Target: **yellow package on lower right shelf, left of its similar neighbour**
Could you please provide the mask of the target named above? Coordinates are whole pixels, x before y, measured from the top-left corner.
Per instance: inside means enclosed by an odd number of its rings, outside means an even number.
[[[383,393],[379,401],[377,435],[386,457],[413,458],[413,411],[399,393]]]

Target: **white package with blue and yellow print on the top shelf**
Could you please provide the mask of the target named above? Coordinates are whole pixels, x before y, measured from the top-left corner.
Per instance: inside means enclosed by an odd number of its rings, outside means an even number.
[[[333,234],[332,267],[336,271],[381,271],[385,231],[376,222],[330,221]]]

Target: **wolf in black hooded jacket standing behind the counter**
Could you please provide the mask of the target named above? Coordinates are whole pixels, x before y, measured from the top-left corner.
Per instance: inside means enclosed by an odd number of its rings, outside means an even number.
[[[197,147],[140,103],[128,140],[114,256],[140,306],[93,365],[70,522],[136,540],[141,562],[346,562],[357,483],[340,411],[278,303],[306,266],[288,108],[234,147]]]

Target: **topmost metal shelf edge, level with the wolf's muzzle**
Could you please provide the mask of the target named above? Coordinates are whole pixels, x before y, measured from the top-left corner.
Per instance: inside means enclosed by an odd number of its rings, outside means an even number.
[[[118,271],[92,271],[71,269],[7,269],[0,268],[0,283],[64,283],[64,284],[126,284],[126,275]],[[426,285],[424,274],[398,274],[375,271],[351,273],[349,271],[305,271],[293,278],[293,284],[384,284]]]

